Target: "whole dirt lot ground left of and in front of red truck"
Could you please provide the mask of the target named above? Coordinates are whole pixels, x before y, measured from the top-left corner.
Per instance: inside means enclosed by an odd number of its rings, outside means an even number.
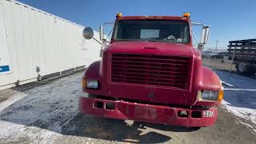
[[[82,115],[81,77],[0,91],[0,143],[256,143],[254,123],[226,106],[219,108],[214,126],[200,130]]]

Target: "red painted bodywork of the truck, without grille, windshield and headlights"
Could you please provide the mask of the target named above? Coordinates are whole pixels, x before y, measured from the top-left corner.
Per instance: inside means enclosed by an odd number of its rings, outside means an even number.
[[[165,18],[186,20],[190,22],[189,18],[182,17],[122,17],[119,19],[132,18]],[[192,38],[192,36],[190,37]],[[149,49],[150,47],[150,49]],[[155,54],[155,55],[170,55],[179,57],[189,57],[190,64],[190,81],[189,88],[186,90],[168,87],[168,86],[150,86],[142,84],[128,84],[110,82],[111,75],[111,55],[112,54]],[[192,40],[188,44],[167,43],[167,42],[114,42],[112,41],[104,51],[102,61],[91,64],[83,78],[97,79],[100,82],[98,90],[84,89],[90,94],[98,94],[117,99],[129,98],[138,102],[173,104],[176,106],[217,106],[218,102],[199,102],[197,101],[198,90],[222,90],[221,81],[218,75],[207,67],[202,66],[201,54],[198,50],[192,47]],[[150,94],[154,94],[154,98],[150,98]],[[174,124],[181,126],[210,126],[215,122],[214,118],[170,118],[177,113],[178,108],[171,108],[166,106],[156,106],[154,110],[141,109],[140,113],[144,111],[149,115],[147,119],[143,117],[134,116],[134,110],[138,104],[117,102],[118,110],[96,110],[91,106],[91,103],[97,99],[81,98],[80,107],[85,114],[92,114],[106,118],[121,118],[134,119],[145,122],[157,122]],[[105,101],[104,101],[105,102]],[[142,107],[145,105],[142,105]],[[154,107],[154,106],[153,106]],[[130,110],[131,113],[127,113]],[[217,109],[213,108],[216,111]],[[150,114],[149,114],[150,113]],[[154,115],[156,113],[156,115]],[[138,115],[138,114],[135,114]],[[154,118],[155,117],[155,118]],[[216,115],[217,117],[217,115]]]

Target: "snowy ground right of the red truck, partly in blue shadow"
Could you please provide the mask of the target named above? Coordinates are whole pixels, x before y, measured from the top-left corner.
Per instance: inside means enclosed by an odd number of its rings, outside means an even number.
[[[242,123],[256,132],[256,79],[220,70],[215,70],[215,72],[223,82],[228,83],[224,86],[223,106],[238,117],[253,122],[253,126],[249,123]]]

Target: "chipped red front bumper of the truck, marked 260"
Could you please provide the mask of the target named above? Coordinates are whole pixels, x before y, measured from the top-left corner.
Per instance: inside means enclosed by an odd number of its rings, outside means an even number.
[[[96,106],[96,103],[102,106]],[[114,105],[113,110],[106,108],[106,103]],[[83,114],[90,114],[103,118],[130,119],[139,122],[153,122],[176,126],[211,126],[217,119],[218,110],[216,107],[210,108],[214,113],[213,117],[204,117],[204,110],[183,109],[170,106],[155,106],[139,104],[136,102],[112,101],[98,98],[81,97],[79,109]],[[187,118],[178,117],[178,111],[186,110]],[[201,118],[192,118],[192,111],[200,111]]]

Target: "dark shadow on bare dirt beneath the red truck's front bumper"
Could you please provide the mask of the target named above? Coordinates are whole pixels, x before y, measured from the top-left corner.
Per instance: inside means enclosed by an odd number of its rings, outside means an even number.
[[[195,130],[181,126],[166,126],[146,122],[128,124],[117,119],[95,118],[77,114],[62,127],[62,134],[133,143],[159,143],[167,142],[171,139],[168,135],[148,130],[149,127],[156,130],[174,132],[190,132]]]

